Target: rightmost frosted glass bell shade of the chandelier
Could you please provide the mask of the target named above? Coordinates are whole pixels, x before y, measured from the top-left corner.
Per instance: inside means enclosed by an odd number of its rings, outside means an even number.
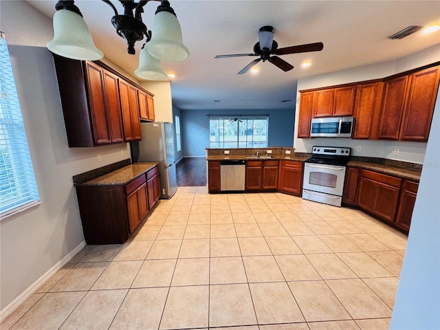
[[[148,52],[162,61],[183,61],[190,55],[181,38],[180,23],[170,12],[155,14]]]

